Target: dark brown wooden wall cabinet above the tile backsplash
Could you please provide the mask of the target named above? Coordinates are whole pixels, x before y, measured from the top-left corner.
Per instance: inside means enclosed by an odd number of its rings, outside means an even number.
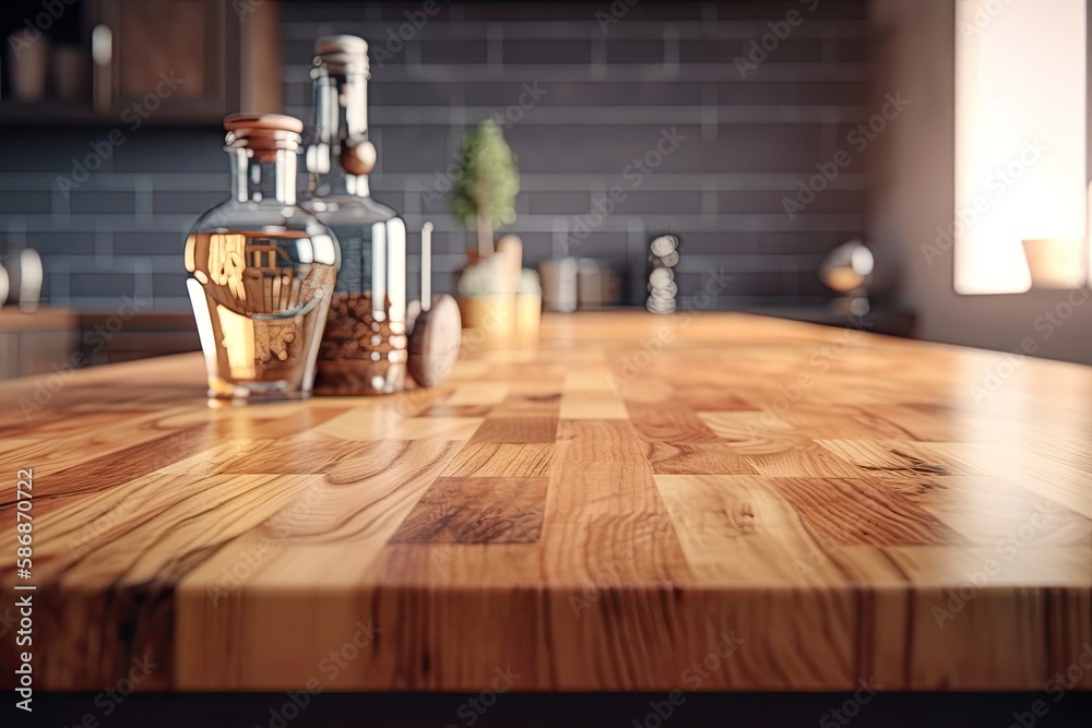
[[[85,97],[5,98],[0,121],[204,124],[281,110],[275,0],[83,0],[72,11],[82,16]]]

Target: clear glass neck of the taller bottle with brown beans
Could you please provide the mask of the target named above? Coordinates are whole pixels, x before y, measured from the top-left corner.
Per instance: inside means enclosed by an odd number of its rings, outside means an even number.
[[[368,76],[334,72],[324,65],[311,75],[314,140],[307,151],[309,191],[318,198],[370,196],[368,176],[346,172],[341,162],[349,141],[368,138]]]

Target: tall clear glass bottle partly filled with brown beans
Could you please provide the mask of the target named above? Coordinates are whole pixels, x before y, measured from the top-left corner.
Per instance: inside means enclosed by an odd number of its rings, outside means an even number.
[[[388,394],[405,386],[406,226],[370,196],[376,147],[368,141],[368,44],[316,41],[314,139],[307,148],[305,205],[342,246],[342,268],[319,351],[316,392]]]

